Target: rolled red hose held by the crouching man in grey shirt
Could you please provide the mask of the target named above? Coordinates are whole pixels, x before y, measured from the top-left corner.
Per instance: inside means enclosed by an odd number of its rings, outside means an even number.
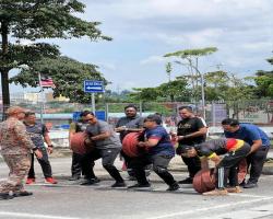
[[[75,132],[70,140],[70,148],[74,153],[85,154],[93,149],[93,142],[85,132]]]

